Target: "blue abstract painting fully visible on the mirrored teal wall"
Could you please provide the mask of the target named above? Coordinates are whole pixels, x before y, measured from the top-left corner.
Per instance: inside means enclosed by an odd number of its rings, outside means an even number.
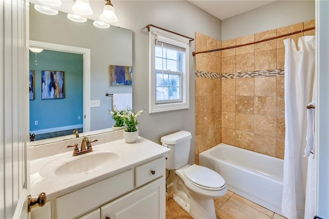
[[[41,99],[64,98],[64,71],[41,71]]]

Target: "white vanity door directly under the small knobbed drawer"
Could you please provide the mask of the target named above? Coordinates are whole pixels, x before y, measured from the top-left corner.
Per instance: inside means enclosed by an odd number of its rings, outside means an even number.
[[[166,182],[161,176],[101,207],[101,218],[166,218]]]

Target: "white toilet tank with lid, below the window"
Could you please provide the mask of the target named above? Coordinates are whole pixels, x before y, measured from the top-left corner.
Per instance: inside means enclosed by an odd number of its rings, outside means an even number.
[[[178,169],[189,161],[192,135],[188,131],[179,131],[161,137],[162,146],[168,147],[166,168]]]

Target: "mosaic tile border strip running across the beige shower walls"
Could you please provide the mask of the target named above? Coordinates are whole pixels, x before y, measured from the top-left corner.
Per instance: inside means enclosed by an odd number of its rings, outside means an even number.
[[[270,77],[284,75],[284,69],[261,70],[261,71],[245,71],[234,73],[211,73],[205,71],[195,71],[195,77],[229,79],[229,78],[247,78],[247,77]]]

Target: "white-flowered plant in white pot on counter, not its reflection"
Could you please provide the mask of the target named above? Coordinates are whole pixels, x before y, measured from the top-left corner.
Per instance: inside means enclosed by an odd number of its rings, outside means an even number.
[[[119,114],[123,118],[125,129],[123,131],[123,138],[126,143],[134,143],[138,138],[138,122],[136,117],[143,113],[144,110],[140,110],[137,113],[134,113],[130,109],[125,109],[123,114]]]

